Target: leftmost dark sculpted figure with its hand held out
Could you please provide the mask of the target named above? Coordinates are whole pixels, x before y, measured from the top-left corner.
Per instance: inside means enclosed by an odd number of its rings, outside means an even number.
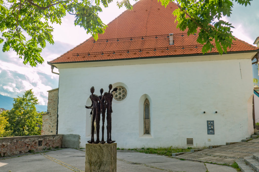
[[[95,143],[98,144],[100,142],[99,140],[99,130],[100,130],[100,110],[102,109],[102,103],[100,98],[96,95],[93,94],[95,92],[95,88],[91,87],[90,89],[91,95],[90,99],[92,101],[91,106],[85,106],[87,109],[92,109],[91,113],[92,114],[92,124],[91,124],[91,140],[87,141],[88,143]],[[95,131],[95,126],[93,125],[94,121],[96,119],[96,141],[94,139],[94,131]]]

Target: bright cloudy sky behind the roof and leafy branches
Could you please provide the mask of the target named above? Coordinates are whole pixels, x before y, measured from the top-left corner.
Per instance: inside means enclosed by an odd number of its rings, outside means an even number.
[[[131,3],[134,4],[135,1],[131,0]],[[253,0],[251,6],[247,7],[235,3],[231,17],[223,18],[235,27],[232,29],[233,35],[249,44],[253,44],[256,37],[259,36],[258,7],[258,0]],[[119,9],[114,1],[108,8],[103,8],[99,17],[105,24],[108,24],[125,10],[125,7]],[[5,53],[0,51],[0,94],[17,97],[22,96],[24,91],[32,89],[39,104],[47,105],[47,91],[59,86],[59,76],[51,73],[51,67],[47,61],[59,57],[91,36],[86,34],[83,28],[74,26],[73,15],[64,17],[61,25],[53,24],[52,26],[55,44],[47,44],[41,53],[45,62],[38,64],[37,67],[32,68],[29,64],[24,65],[23,60],[19,59],[13,51]],[[2,45],[0,45],[0,49],[2,50]],[[54,71],[58,72],[57,69]]]

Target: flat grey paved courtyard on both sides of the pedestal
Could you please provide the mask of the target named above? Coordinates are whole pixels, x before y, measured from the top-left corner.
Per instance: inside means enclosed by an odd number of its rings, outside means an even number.
[[[0,160],[0,171],[84,171],[85,152],[76,149],[25,155]],[[145,154],[133,151],[117,151],[117,171],[186,171],[186,172],[236,172],[232,167],[203,162],[183,161],[160,155]]]

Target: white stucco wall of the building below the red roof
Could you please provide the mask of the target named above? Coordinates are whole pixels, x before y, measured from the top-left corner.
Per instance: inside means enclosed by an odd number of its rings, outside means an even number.
[[[237,60],[235,56],[239,56]],[[254,132],[250,56],[222,55],[216,61],[211,61],[216,55],[201,61],[155,59],[156,64],[148,59],[150,64],[127,60],[99,67],[83,67],[81,63],[80,68],[75,68],[76,63],[70,65],[72,68],[59,64],[58,133],[79,134],[84,147],[91,137],[90,110],[84,107],[91,104],[90,87],[99,95],[100,88],[107,92],[109,84],[123,83],[126,99],[112,102],[112,140],[118,147],[188,147],[186,138],[193,138],[192,147],[239,142]],[[150,102],[151,135],[143,135],[141,104],[146,98]],[[215,135],[207,135],[207,120],[214,120]]]

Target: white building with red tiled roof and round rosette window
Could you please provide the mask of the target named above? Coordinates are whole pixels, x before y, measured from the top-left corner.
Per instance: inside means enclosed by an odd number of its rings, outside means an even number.
[[[48,62],[59,69],[58,134],[79,134],[84,146],[90,88],[99,95],[109,84],[121,86],[112,102],[112,140],[120,148],[221,145],[254,133],[251,59],[258,48],[237,39],[227,54],[202,55],[198,35],[176,28],[175,8],[140,0],[96,42],[91,37]]]

